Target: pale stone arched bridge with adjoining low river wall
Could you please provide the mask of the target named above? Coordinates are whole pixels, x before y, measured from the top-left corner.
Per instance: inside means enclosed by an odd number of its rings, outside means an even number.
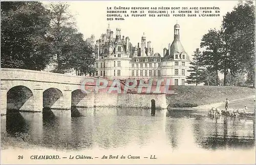
[[[151,100],[156,108],[165,109],[164,93],[155,95],[139,93],[85,93],[81,85],[94,77],[69,76],[26,69],[1,68],[1,114],[7,109],[41,112],[43,108],[71,109],[74,107],[140,107],[150,108]]]

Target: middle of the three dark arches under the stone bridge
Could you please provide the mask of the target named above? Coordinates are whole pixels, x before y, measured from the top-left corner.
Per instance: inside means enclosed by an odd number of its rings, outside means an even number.
[[[48,88],[42,92],[42,106],[44,108],[62,109],[63,93],[58,88]]]

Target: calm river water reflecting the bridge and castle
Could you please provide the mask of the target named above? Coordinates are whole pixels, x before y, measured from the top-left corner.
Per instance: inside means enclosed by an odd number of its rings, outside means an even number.
[[[160,150],[253,149],[254,119],[209,117],[206,111],[139,108],[77,108],[43,113],[8,111],[2,133],[40,147],[60,150],[125,149],[129,146]]]

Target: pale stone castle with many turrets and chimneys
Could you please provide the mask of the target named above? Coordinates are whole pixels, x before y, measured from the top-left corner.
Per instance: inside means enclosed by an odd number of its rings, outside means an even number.
[[[93,43],[92,40],[90,42]],[[154,53],[151,41],[143,34],[141,43],[133,46],[129,37],[116,35],[110,29],[95,43],[95,76],[107,79],[162,79],[170,78],[171,85],[187,85],[189,56],[180,41],[180,26],[174,26],[174,40],[163,49],[163,55]]]

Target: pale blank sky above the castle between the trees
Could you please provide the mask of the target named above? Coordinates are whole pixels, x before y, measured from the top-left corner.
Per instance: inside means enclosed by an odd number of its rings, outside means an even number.
[[[200,47],[201,38],[210,29],[220,29],[223,16],[231,12],[238,1],[75,1],[68,2],[70,12],[74,15],[78,31],[88,38],[91,34],[98,39],[106,33],[108,23],[116,33],[121,28],[121,35],[129,36],[130,42],[135,46],[141,42],[145,33],[146,42],[151,41],[154,53],[163,54],[168,49],[168,43],[174,39],[174,25],[180,25],[181,43],[191,57]],[[219,7],[220,17],[127,17],[125,20],[106,20],[107,7]],[[176,10],[178,11],[178,10]],[[129,13],[130,10],[127,10]],[[148,13],[146,13],[148,14]]]

